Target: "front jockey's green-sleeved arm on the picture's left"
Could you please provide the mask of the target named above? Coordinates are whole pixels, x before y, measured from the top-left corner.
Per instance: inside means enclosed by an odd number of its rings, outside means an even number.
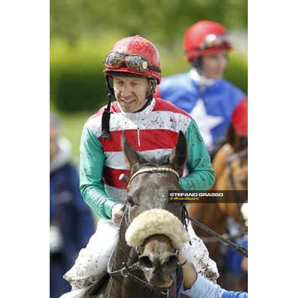
[[[84,126],[80,143],[80,191],[84,201],[103,219],[111,218],[117,201],[105,192],[102,182],[104,153],[96,135]]]

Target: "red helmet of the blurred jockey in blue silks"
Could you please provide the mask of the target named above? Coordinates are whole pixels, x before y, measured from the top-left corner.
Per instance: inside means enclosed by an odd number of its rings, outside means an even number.
[[[187,60],[191,62],[201,56],[231,50],[232,46],[228,33],[221,24],[199,21],[186,30],[183,48]]]

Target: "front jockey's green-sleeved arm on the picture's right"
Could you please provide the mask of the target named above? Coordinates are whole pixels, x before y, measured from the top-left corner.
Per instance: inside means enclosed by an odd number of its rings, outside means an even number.
[[[206,190],[213,185],[215,172],[195,120],[190,122],[185,137],[189,174],[180,178],[179,183],[184,190]]]

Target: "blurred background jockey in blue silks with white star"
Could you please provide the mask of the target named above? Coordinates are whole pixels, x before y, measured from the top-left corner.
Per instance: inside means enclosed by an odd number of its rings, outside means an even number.
[[[198,21],[186,30],[183,47],[190,71],[163,78],[156,97],[169,100],[196,120],[211,154],[224,141],[230,124],[247,141],[247,97],[223,78],[232,49],[224,27]]]

